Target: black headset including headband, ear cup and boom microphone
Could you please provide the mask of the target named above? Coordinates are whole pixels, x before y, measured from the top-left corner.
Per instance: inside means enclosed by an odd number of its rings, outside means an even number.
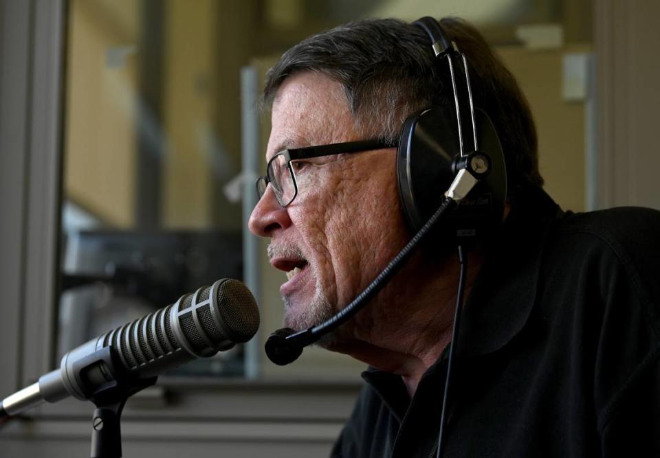
[[[397,150],[399,197],[408,227],[415,235],[373,282],[333,317],[307,330],[283,328],[273,332],[265,343],[265,352],[275,364],[292,363],[304,347],[351,319],[399,271],[429,233],[439,239],[437,245],[441,247],[459,247],[462,278],[467,268],[463,247],[487,238],[503,220],[507,198],[504,153],[492,121],[472,100],[467,58],[436,19],[426,16],[412,24],[428,34],[438,65],[446,60],[454,100],[454,104],[434,105],[413,113],[401,128]],[[436,226],[441,218],[443,224]],[[460,291],[459,285],[462,300]],[[456,314],[454,331],[458,318]]]

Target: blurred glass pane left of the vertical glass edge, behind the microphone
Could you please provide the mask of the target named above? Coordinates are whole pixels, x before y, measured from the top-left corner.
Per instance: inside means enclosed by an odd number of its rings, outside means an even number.
[[[243,275],[239,68],[221,5],[69,5],[58,355]],[[243,349],[177,369],[243,375]]]

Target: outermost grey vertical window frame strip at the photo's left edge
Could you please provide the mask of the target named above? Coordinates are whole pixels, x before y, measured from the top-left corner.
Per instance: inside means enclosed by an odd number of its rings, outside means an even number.
[[[29,1],[0,0],[0,390],[22,388],[21,323],[24,321],[25,212],[29,141],[25,119],[30,99]]]

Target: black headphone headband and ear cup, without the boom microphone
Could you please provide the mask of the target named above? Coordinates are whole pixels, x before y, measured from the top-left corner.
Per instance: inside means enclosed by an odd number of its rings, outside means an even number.
[[[504,153],[490,118],[472,100],[465,54],[436,19],[426,16],[413,25],[428,34],[437,65],[447,65],[454,103],[430,106],[404,122],[397,151],[401,206],[408,227],[419,231],[454,180],[458,159],[485,153],[489,173],[434,230],[442,247],[471,247],[502,222],[507,198]]]

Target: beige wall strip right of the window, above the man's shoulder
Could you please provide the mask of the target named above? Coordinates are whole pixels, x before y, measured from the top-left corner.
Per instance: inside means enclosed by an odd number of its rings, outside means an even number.
[[[660,33],[655,0],[600,0],[597,56],[597,206],[660,209]]]

